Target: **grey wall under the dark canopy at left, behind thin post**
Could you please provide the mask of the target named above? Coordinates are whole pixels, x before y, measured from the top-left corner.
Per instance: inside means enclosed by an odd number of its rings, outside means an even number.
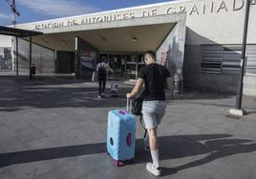
[[[15,41],[14,41],[15,42]],[[30,74],[30,60],[29,60],[29,50],[30,43],[26,40],[19,39],[18,41],[18,69],[19,74],[29,75]],[[15,43],[14,48],[15,50]],[[15,53],[15,51],[14,51]],[[32,64],[36,66],[37,74],[44,73],[54,73],[54,51],[46,49],[44,47],[32,44]],[[16,60],[16,59],[15,59]],[[14,69],[16,61],[14,61]]]

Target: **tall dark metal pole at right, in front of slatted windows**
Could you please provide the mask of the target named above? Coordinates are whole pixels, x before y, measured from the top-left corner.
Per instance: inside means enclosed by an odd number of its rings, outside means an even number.
[[[245,25],[244,25],[244,36],[243,36],[242,57],[241,57],[241,70],[240,70],[239,89],[237,92],[237,99],[236,99],[236,109],[241,109],[241,106],[242,106],[244,73],[245,73],[245,50],[246,50],[246,38],[247,38],[247,29],[248,29],[249,6],[250,6],[250,0],[246,0]]]

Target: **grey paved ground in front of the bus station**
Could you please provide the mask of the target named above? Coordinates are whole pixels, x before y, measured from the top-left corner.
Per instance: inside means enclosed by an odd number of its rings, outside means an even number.
[[[0,78],[0,178],[154,178],[137,125],[135,164],[113,166],[106,154],[107,111],[118,98],[96,99],[96,85],[71,79]],[[170,98],[170,97],[168,97]],[[168,101],[160,126],[162,178],[256,178],[256,98],[248,115],[226,117],[234,96],[187,91]]]

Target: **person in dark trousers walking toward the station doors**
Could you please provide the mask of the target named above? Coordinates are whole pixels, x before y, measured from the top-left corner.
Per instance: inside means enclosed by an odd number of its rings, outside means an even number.
[[[108,71],[114,72],[109,65],[106,63],[106,57],[102,56],[99,63],[96,65],[97,80],[98,80],[98,98],[105,97],[105,88],[107,81]]]

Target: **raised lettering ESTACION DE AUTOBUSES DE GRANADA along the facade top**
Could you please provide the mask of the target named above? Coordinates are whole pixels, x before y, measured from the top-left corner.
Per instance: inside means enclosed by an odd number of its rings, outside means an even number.
[[[110,13],[105,15],[84,15],[70,20],[62,20],[59,22],[50,22],[35,24],[35,30],[54,29],[61,27],[71,27],[85,24],[114,22],[118,20],[126,20],[132,18],[149,17],[164,14],[173,14],[186,12],[188,15],[200,15],[209,13],[219,13],[221,11],[236,11],[242,10],[245,7],[245,0],[232,0],[232,3],[226,3],[228,0],[221,1],[205,1],[200,4],[184,3],[173,4],[168,6],[154,7],[151,9],[127,10],[123,12]],[[256,5],[256,0],[250,0],[251,5]]]

